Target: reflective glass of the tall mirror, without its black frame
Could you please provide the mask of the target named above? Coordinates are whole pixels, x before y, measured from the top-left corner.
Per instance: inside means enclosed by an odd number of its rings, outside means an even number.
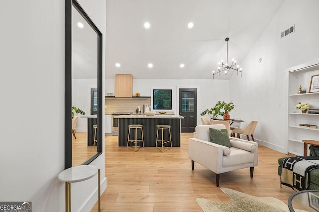
[[[72,166],[97,153],[97,113],[92,113],[92,89],[97,89],[97,34],[72,6]],[[95,135],[95,139],[94,139]]]

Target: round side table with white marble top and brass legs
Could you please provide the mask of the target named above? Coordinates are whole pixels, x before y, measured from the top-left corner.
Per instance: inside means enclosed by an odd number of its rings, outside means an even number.
[[[71,212],[71,183],[88,180],[98,174],[98,211],[101,210],[100,169],[92,165],[80,165],[65,169],[59,174],[59,180],[65,182],[65,212]]]

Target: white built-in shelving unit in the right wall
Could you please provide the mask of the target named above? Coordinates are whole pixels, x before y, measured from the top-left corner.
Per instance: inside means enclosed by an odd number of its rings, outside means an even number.
[[[296,110],[299,102],[308,102],[311,109],[319,109],[319,92],[308,93],[311,76],[319,74],[319,59],[286,70],[288,77],[288,121],[287,151],[303,156],[302,140],[318,140],[319,128],[303,128],[299,124],[312,124],[319,127],[319,114],[302,113]],[[304,94],[297,94],[299,85]],[[308,151],[309,153],[309,151]]]

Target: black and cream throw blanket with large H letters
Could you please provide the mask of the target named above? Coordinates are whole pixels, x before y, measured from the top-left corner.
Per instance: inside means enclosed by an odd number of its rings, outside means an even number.
[[[318,157],[287,157],[283,162],[281,184],[295,191],[307,190],[309,172],[319,168]]]

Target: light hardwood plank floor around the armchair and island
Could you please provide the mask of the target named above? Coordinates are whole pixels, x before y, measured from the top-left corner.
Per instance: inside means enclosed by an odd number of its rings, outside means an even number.
[[[258,197],[275,197],[287,204],[294,193],[279,187],[277,159],[287,155],[259,146],[258,166],[250,178],[249,168],[221,174],[216,187],[215,174],[195,163],[191,170],[188,139],[182,134],[181,147],[164,153],[154,147],[134,152],[117,146],[117,136],[105,137],[105,176],[107,188],[101,196],[103,212],[201,212],[196,197],[229,202],[220,187]],[[97,204],[91,212],[97,212]]]

